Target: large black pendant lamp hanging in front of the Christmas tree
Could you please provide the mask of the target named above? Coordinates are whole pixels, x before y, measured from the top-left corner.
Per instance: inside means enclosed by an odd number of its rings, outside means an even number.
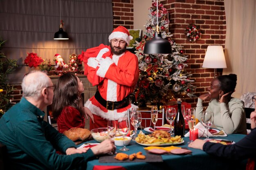
[[[155,37],[147,41],[144,46],[144,54],[171,54],[172,47],[168,40],[162,38],[158,26],[158,0],[157,0],[157,30]]]

